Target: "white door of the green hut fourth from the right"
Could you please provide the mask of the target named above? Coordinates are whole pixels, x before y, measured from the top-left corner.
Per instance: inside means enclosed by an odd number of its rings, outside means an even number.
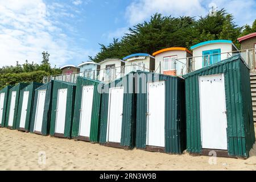
[[[94,86],[82,87],[79,136],[90,137]]]

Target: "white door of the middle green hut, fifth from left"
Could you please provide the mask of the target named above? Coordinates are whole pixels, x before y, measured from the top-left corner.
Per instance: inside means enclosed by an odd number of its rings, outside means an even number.
[[[64,134],[68,89],[59,89],[56,109],[55,133]]]

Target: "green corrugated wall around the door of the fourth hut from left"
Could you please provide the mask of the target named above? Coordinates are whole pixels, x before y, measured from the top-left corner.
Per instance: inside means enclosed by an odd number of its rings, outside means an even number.
[[[51,121],[51,110],[52,110],[52,85],[53,85],[53,81],[50,81],[42,86],[39,86],[39,88],[35,89],[34,104],[33,104],[32,116],[30,121],[31,133],[34,133],[35,114],[36,114],[36,106],[38,104],[39,90],[46,90],[46,101],[44,104],[42,135],[49,134],[49,125]]]

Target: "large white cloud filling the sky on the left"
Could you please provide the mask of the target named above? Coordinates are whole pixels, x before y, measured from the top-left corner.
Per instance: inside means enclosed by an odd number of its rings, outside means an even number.
[[[26,59],[40,63],[43,51],[50,53],[51,64],[57,66],[95,53],[71,46],[72,41],[51,18],[42,0],[0,0],[0,67]]]

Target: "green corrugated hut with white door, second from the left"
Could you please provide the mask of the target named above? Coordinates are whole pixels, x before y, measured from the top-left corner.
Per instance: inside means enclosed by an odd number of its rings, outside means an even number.
[[[27,85],[25,83],[19,83],[10,89],[5,122],[5,126],[9,129],[16,129],[20,91]]]

